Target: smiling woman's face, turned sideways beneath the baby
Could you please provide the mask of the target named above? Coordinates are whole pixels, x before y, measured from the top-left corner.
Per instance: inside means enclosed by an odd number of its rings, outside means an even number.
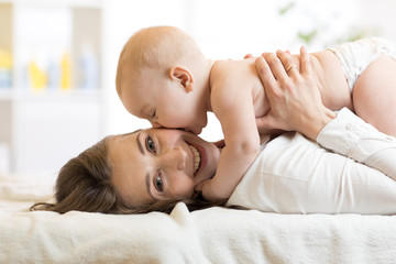
[[[220,151],[197,135],[172,129],[148,129],[110,141],[112,183],[130,206],[186,198],[211,178]]]

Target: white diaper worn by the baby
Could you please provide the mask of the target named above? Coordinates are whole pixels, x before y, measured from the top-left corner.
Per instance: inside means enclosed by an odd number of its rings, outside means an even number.
[[[396,45],[381,37],[363,38],[328,50],[340,59],[351,91],[359,76],[380,55],[396,59]]]

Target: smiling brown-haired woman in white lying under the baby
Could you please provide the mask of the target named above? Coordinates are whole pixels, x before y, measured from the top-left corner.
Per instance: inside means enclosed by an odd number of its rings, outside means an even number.
[[[321,103],[309,61],[301,65],[301,73],[286,73],[285,68],[293,66],[290,56],[279,53],[278,57],[265,54],[265,61],[256,63],[272,107],[257,123],[299,131],[323,147],[299,133],[264,139],[262,154],[228,205],[277,212],[396,213],[395,139],[346,109],[336,118]],[[213,206],[196,189],[213,175],[219,153],[213,144],[180,130],[150,129],[109,136],[61,169],[55,205],[37,204],[33,209],[139,213],[168,212],[180,200],[191,210]],[[284,153],[286,156],[270,160]],[[270,164],[268,172],[262,173],[263,164]],[[277,182],[272,169],[282,180]],[[310,173],[301,178],[304,170]]]

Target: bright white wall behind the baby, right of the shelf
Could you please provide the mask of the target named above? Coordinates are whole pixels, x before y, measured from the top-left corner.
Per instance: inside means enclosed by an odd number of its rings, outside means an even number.
[[[289,7],[284,15],[279,10]],[[105,0],[105,87],[108,89],[108,133],[122,133],[150,123],[131,117],[114,88],[117,61],[133,32],[150,25],[179,26],[193,35],[211,58],[242,58],[246,53],[304,44],[298,32],[317,32],[310,51],[343,42],[360,32],[396,42],[396,1],[392,0]],[[209,116],[202,132],[207,140],[222,136]]]

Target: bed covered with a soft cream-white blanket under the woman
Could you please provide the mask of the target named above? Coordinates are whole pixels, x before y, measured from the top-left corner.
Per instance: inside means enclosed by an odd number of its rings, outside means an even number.
[[[55,176],[0,176],[0,263],[395,263],[396,216],[277,215],[210,208],[65,215]]]

